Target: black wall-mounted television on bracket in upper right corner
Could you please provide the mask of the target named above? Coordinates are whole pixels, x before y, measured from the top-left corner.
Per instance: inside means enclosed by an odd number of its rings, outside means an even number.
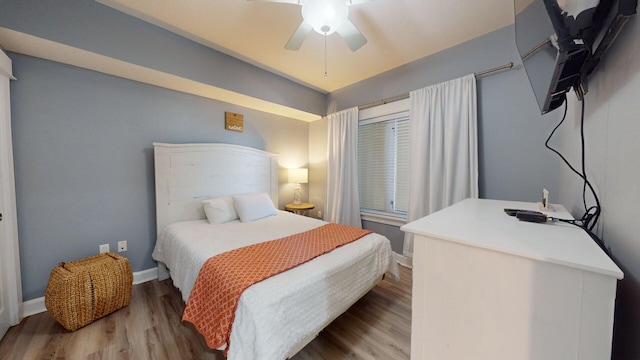
[[[542,114],[564,103],[616,39],[637,0],[514,0],[516,46]]]

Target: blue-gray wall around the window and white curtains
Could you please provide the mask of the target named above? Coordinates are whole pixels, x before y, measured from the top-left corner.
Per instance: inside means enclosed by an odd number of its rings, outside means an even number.
[[[514,69],[478,77],[480,197],[538,201],[546,188],[551,200],[557,200],[560,165],[544,142],[561,114],[540,115],[518,56],[513,26],[333,92],[328,107],[335,111],[366,104],[510,61],[516,64]],[[311,128],[312,138],[326,138],[326,121],[322,125]],[[322,152],[326,154],[326,145],[311,149],[310,156],[319,157]],[[316,163],[320,169],[326,166],[326,162]],[[311,190],[312,198],[324,197],[324,189]],[[394,251],[402,253],[403,233],[398,227],[363,225],[387,236]]]

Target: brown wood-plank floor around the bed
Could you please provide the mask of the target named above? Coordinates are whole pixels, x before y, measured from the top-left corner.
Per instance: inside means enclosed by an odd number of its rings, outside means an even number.
[[[387,277],[292,360],[409,359],[411,270]],[[0,359],[224,359],[189,323],[171,280],[135,285],[131,304],[75,332],[48,313],[24,319],[0,341]]]

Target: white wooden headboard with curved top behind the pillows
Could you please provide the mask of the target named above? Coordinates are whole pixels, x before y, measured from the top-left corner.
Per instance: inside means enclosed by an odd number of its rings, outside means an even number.
[[[230,144],[153,143],[156,228],[204,219],[202,200],[264,192],[278,206],[277,155]]]

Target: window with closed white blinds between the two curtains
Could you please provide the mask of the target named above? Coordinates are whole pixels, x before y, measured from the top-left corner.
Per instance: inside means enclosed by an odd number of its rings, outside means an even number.
[[[360,212],[365,220],[401,224],[409,206],[409,112],[366,115],[358,127]]]

